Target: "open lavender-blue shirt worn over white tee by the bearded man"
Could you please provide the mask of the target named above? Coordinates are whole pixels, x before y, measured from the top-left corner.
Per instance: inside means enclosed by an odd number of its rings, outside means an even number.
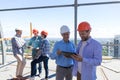
[[[77,54],[79,54],[80,41],[77,47]],[[96,66],[102,62],[102,46],[96,40],[89,38],[86,46],[82,52],[83,61],[81,62],[81,80],[96,80]],[[73,68],[73,75],[76,75],[78,71],[78,62],[75,61]]]

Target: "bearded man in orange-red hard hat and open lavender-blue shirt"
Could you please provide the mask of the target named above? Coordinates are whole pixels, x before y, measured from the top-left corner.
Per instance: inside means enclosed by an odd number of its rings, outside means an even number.
[[[102,62],[102,46],[90,36],[91,26],[88,22],[81,22],[77,31],[81,41],[77,46],[73,75],[77,80],[96,80],[96,66]]]

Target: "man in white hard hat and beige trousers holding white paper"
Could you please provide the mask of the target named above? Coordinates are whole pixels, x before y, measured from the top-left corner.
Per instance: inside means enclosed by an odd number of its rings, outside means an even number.
[[[18,78],[21,79],[23,78],[22,73],[26,64],[25,58],[23,57],[24,55],[23,47],[25,45],[25,41],[21,38],[22,35],[21,28],[16,28],[15,32],[16,35],[12,38],[11,43],[12,43],[13,55],[17,59],[16,77],[17,79]]]

